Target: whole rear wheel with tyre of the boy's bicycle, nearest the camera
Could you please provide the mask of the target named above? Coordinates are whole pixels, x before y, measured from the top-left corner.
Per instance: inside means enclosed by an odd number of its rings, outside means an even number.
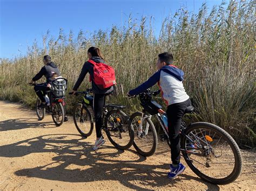
[[[226,185],[238,178],[242,169],[241,151],[225,130],[199,122],[188,126],[184,133],[181,151],[187,165],[201,179]]]

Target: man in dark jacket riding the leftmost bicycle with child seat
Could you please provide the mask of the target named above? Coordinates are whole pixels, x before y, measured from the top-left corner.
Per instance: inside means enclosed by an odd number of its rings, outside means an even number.
[[[41,77],[45,76],[46,83],[38,84],[34,87],[37,96],[42,101],[41,105],[38,107],[44,108],[46,106],[44,95],[46,94],[45,91],[50,90],[48,87],[48,83],[52,81],[52,74],[57,73],[60,75],[59,69],[54,62],[51,61],[51,56],[45,55],[43,59],[44,65],[41,70],[32,78],[30,83],[35,83],[37,80],[40,80]],[[68,117],[65,116],[64,121],[68,121]]]

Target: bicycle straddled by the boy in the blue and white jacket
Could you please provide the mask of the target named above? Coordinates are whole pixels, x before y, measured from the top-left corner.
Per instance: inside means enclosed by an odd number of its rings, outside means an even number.
[[[170,146],[166,113],[161,109],[161,105],[152,101],[152,96],[159,93],[159,90],[151,92],[147,89],[139,94],[143,110],[135,112],[130,117],[135,131],[133,146],[139,154],[144,156],[154,154],[158,144],[157,132],[151,121],[153,115],[156,115],[167,138],[167,144]],[[133,97],[137,95],[130,98]],[[187,107],[184,115],[192,114],[193,110],[193,106]],[[234,139],[217,125],[197,122],[187,126],[182,120],[180,146],[181,155],[187,165],[207,182],[225,185],[233,182],[241,173],[241,151]]]

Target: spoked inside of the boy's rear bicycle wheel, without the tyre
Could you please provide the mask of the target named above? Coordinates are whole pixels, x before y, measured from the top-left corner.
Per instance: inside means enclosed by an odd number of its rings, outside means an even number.
[[[204,146],[197,148],[191,145],[188,138],[185,138],[185,150],[181,150],[192,169],[195,168],[214,180],[223,180],[237,170],[235,164],[238,161],[232,149],[233,145],[227,141],[223,131],[218,127],[208,128],[207,125],[206,127],[198,125],[197,128],[188,130],[186,135],[195,143],[201,143]]]

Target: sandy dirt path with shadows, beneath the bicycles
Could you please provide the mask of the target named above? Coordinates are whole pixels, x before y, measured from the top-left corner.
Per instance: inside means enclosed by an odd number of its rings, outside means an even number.
[[[71,118],[71,117],[70,117]],[[190,168],[167,178],[170,151],[145,158],[134,148],[118,151],[107,140],[93,151],[95,132],[84,139],[70,120],[56,127],[50,115],[0,101],[0,190],[255,189],[255,153],[242,151],[244,168],[230,185],[204,182]]]

